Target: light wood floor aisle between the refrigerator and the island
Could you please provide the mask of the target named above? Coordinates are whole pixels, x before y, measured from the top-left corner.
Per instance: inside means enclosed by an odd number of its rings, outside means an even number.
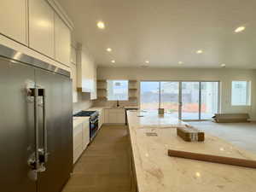
[[[104,125],[74,166],[62,192],[130,192],[129,146],[125,126]]]

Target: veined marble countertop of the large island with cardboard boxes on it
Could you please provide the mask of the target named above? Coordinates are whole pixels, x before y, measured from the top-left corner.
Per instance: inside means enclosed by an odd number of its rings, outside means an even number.
[[[139,117],[142,116],[142,117]],[[256,169],[170,157],[168,149],[256,160],[256,154],[206,134],[204,143],[177,137],[185,123],[170,115],[128,112],[138,192],[255,192]],[[157,137],[147,136],[154,132]]]

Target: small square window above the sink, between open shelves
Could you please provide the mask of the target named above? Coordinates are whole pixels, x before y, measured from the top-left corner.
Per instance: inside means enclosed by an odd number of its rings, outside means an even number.
[[[108,100],[126,101],[128,100],[127,80],[108,80]]]

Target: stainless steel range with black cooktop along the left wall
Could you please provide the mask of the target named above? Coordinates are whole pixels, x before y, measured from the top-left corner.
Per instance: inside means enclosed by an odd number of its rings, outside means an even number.
[[[99,124],[99,112],[97,111],[80,111],[73,115],[74,117],[90,117],[90,141],[96,137]]]

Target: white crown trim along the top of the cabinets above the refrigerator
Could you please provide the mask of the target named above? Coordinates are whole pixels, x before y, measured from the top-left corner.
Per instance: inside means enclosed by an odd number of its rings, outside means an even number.
[[[65,22],[68,28],[70,28],[70,30],[73,31],[74,29],[73,21],[69,18],[66,11],[61,7],[61,4],[56,0],[47,0],[47,2],[53,9],[55,9],[56,14],[61,17],[61,20]]]

